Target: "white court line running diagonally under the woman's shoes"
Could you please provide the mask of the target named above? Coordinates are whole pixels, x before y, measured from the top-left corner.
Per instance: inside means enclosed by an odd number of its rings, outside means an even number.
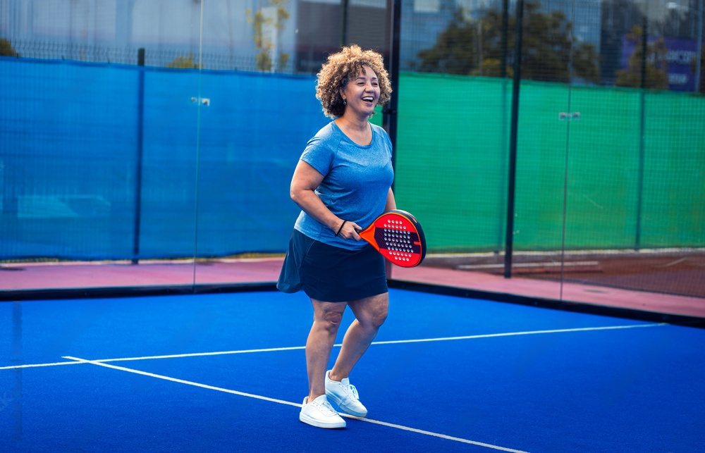
[[[154,374],[154,373],[147,373],[146,371],[140,371],[140,370],[135,370],[133,368],[125,368],[124,366],[116,366],[116,365],[110,365],[106,364],[104,362],[100,361],[95,361],[95,360],[87,360],[87,359],[79,359],[78,357],[72,357],[72,356],[63,356],[61,357],[62,359],[69,359],[69,360],[74,360],[75,363],[77,364],[92,364],[92,365],[97,365],[97,366],[104,366],[106,368],[113,368],[114,370],[119,370],[119,371],[126,371],[128,373],[135,373],[135,374],[140,374],[142,376],[149,376],[150,378],[157,378],[157,379],[164,379],[164,380],[170,380],[171,382],[174,383],[180,383],[180,384],[185,384],[185,385],[193,385],[195,387],[201,387],[205,388],[208,390],[216,390],[218,392],[226,392],[226,393],[231,393],[232,395],[240,395],[242,397],[250,397],[250,398],[255,398],[255,399],[262,399],[264,401],[269,401],[269,402],[274,402],[278,404],[286,404],[287,406],[293,406],[293,407],[301,407],[301,404],[298,403],[293,403],[289,401],[284,401],[283,399],[276,399],[276,398],[269,398],[269,397],[263,397],[262,395],[254,395],[252,393],[245,393],[245,392],[238,392],[237,390],[230,390],[226,389],[223,387],[214,387],[213,385],[206,385],[206,384],[201,384],[201,383],[195,383],[190,380],[183,380],[183,379],[177,379],[177,378],[170,378],[169,376],[162,376],[161,374]],[[506,448],[506,447],[500,447],[498,445],[491,445],[491,444],[486,444],[483,442],[476,442],[474,440],[467,440],[467,439],[462,439],[462,438],[454,438],[453,436],[450,435],[445,435],[445,434],[440,434],[440,433],[433,433],[431,431],[427,430],[419,430],[416,428],[410,428],[408,426],[402,426],[402,425],[396,425],[395,423],[387,423],[384,421],[378,421],[378,420],[372,420],[370,418],[360,418],[360,417],[353,417],[349,416],[348,414],[341,414],[342,416],[346,416],[348,418],[354,418],[355,420],[361,420],[361,421],[367,421],[369,423],[374,423],[376,425],[381,425],[381,426],[388,426],[389,428],[397,428],[400,430],[405,430],[405,431],[410,431],[412,433],[419,433],[419,434],[424,434],[424,435],[430,435],[436,438],[441,438],[441,439],[447,439],[447,440],[454,440],[455,442],[462,442],[466,444],[472,444],[472,445],[478,445],[479,447],[486,447],[486,448],[491,448],[491,449],[496,449],[496,450],[501,450],[503,452],[512,452],[512,453],[527,453],[522,450],[517,450],[517,449],[511,449],[511,448]]]

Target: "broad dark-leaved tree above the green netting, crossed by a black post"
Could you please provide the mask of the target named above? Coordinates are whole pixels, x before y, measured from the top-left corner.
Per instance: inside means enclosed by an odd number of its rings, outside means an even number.
[[[516,20],[508,21],[508,49],[514,48]],[[525,4],[522,40],[522,78],[568,82],[572,75],[599,81],[599,57],[595,46],[572,37],[572,23],[560,11],[539,12],[539,4]],[[501,70],[502,11],[492,8],[482,18],[453,15],[436,44],[419,52],[419,70],[462,75],[498,77]],[[572,51],[572,58],[571,58]],[[508,56],[511,60],[512,56]],[[508,66],[509,61],[508,61]],[[511,68],[507,68],[511,75]]]

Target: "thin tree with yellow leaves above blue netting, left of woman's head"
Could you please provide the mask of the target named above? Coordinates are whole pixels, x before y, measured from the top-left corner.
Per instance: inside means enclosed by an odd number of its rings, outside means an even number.
[[[255,49],[259,51],[255,60],[257,61],[257,69],[269,72],[274,70],[274,62],[272,61],[272,51],[274,50],[274,42],[266,32],[267,27],[274,27],[276,30],[276,39],[280,39],[281,30],[284,30],[284,22],[289,18],[290,14],[284,8],[287,0],[269,0],[271,8],[274,8],[273,15],[266,15],[265,11],[260,8],[254,14],[251,9],[247,9],[247,22],[252,24],[252,40],[255,42]],[[271,8],[268,8],[271,11]],[[272,17],[273,16],[273,17]],[[289,61],[289,54],[279,52],[276,64],[276,70],[281,71],[286,68]]]

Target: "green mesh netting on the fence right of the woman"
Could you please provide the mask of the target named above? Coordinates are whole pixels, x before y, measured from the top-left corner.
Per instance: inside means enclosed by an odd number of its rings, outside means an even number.
[[[398,206],[433,252],[503,249],[511,81],[399,85]],[[635,89],[522,82],[515,249],[560,249],[564,200],[566,249],[705,246],[705,99],[647,92],[643,160],[641,108]]]

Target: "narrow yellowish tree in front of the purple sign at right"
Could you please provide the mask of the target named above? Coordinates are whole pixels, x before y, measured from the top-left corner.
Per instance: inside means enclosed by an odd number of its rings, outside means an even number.
[[[642,55],[644,54],[644,31],[639,25],[632,28],[627,41],[634,45],[634,51],[627,61],[627,68],[617,70],[618,87],[642,86]],[[668,61],[666,61],[666,44],[663,38],[646,43],[646,80],[644,86],[649,89],[668,89]]]

